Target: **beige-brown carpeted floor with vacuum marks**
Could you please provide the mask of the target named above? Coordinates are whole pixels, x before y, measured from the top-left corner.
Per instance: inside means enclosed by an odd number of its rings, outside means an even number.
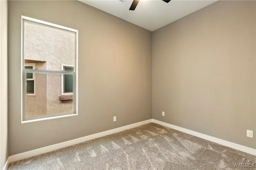
[[[148,123],[64,149],[12,162],[8,170],[232,170],[256,156]],[[247,164],[245,164],[247,163]]]

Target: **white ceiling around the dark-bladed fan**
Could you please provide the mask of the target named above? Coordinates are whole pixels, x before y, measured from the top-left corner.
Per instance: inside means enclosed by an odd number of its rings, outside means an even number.
[[[150,31],[172,23],[217,0],[140,0],[134,11],[129,10],[132,0],[79,0],[104,12],[122,18]]]

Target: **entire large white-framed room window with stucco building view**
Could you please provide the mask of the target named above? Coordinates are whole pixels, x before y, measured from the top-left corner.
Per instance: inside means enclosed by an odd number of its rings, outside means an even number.
[[[77,114],[77,37],[22,16],[22,121]]]

